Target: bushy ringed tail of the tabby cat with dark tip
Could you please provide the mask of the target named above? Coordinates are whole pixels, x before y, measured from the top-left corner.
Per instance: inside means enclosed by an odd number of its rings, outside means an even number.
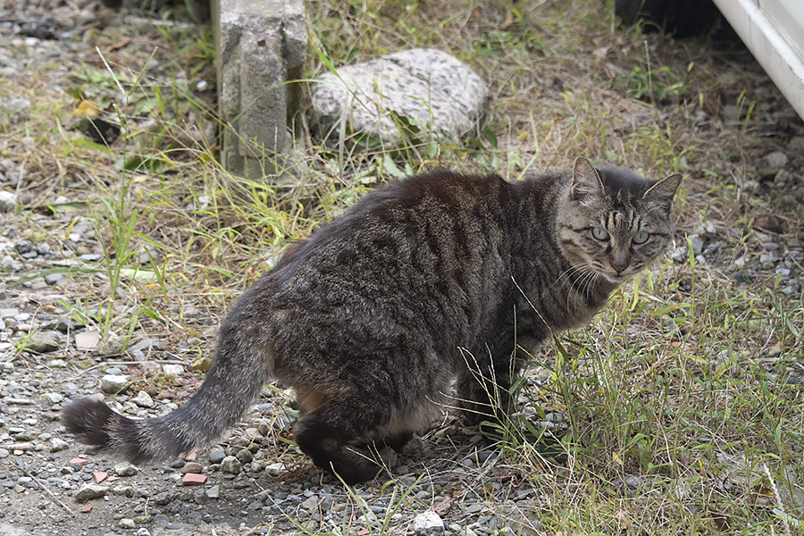
[[[172,459],[218,439],[238,423],[272,372],[272,344],[247,333],[237,316],[224,322],[214,364],[186,405],[162,417],[130,419],[103,400],[80,398],[62,410],[67,431],[133,464]]]

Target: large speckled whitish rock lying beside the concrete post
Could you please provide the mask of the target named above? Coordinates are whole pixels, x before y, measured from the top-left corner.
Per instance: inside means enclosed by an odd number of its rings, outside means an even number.
[[[420,123],[436,138],[456,139],[479,130],[489,106],[486,82],[434,48],[405,50],[336,71],[322,74],[311,88],[312,124],[331,142],[363,132],[397,143],[402,137],[394,113]]]

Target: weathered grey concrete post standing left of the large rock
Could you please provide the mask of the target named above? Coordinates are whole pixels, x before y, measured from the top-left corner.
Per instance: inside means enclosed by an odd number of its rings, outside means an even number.
[[[212,0],[221,159],[250,180],[281,174],[307,44],[303,0]]]

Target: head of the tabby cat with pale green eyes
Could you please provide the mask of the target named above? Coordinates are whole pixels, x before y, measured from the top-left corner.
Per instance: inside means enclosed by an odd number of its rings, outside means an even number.
[[[557,214],[557,239],[567,259],[612,283],[640,272],[673,239],[670,206],[681,180],[679,173],[646,180],[578,157]]]

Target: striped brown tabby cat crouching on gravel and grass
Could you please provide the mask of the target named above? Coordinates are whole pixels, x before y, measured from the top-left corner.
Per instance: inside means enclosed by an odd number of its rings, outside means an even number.
[[[508,411],[523,348],[590,320],[666,250],[680,182],[582,157],[515,183],[400,180],[290,247],[239,298],[185,406],[135,420],[80,398],[63,423],[133,463],[169,459],[220,437],[274,378],[296,391],[294,437],[315,465],[371,479],[378,466],[354,447],[401,448],[456,400],[470,422]]]

